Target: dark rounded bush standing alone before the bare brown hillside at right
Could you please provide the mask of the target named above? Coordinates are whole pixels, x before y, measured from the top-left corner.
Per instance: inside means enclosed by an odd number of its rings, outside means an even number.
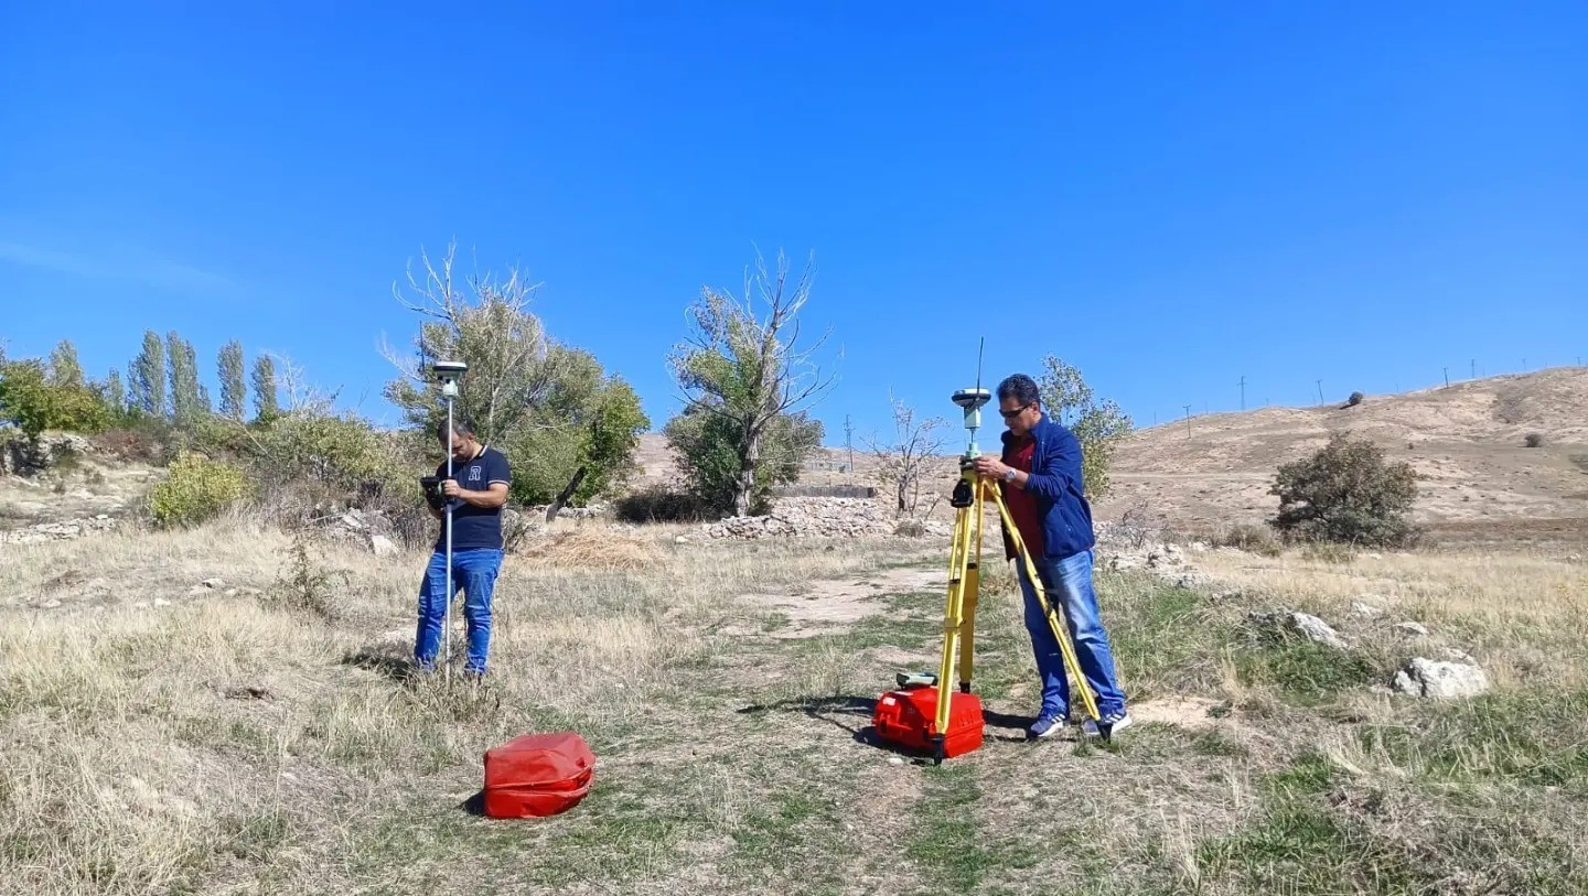
[[[1280,498],[1274,526],[1291,539],[1390,547],[1416,539],[1416,473],[1385,463],[1366,439],[1336,433],[1315,455],[1280,466],[1269,493]]]

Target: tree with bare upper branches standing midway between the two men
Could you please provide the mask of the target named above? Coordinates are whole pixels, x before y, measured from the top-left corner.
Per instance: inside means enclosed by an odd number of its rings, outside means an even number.
[[[813,266],[789,282],[788,257],[780,251],[777,273],[745,271],[742,298],[711,287],[689,308],[691,331],[669,358],[686,412],[703,412],[727,423],[735,436],[734,512],[750,512],[762,439],[773,420],[796,412],[834,382],[823,376],[815,352],[826,338],[799,347],[799,312],[810,300]],[[765,309],[757,312],[756,298]]]

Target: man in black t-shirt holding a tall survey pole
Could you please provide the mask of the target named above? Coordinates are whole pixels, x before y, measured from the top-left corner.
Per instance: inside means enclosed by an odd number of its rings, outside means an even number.
[[[491,592],[502,569],[502,506],[511,471],[507,458],[475,438],[468,420],[443,422],[437,438],[443,450],[453,454],[453,477],[446,477],[446,461],[435,468],[441,477],[441,493],[453,506],[453,588],[464,593],[464,618],[468,622],[468,661],[465,674],[483,676],[491,645]],[[430,507],[445,520],[446,506]],[[419,585],[419,626],[413,642],[413,658],[421,669],[435,668],[441,645],[441,622],[446,612],[446,525],[435,538],[435,553]]]

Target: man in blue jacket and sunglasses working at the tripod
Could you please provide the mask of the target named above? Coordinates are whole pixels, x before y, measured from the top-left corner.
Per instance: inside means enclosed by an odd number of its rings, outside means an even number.
[[[1099,722],[1086,720],[1088,734],[1099,728],[1112,736],[1131,725],[1108,645],[1108,633],[1097,614],[1093,588],[1091,504],[1081,479],[1081,446],[1075,433],[1042,412],[1037,382],[1015,374],[997,387],[1004,433],[1002,457],[980,457],[978,474],[999,481],[1008,515],[1042,580],[1048,601],[1064,611],[1086,685],[1097,695]],[[1004,533],[1004,553],[1013,560],[1015,544]],[[1019,588],[1026,598],[1026,630],[1042,676],[1042,710],[1031,726],[1032,737],[1048,737],[1069,723],[1070,687],[1064,674],[1059,642],[1037,603],[1026,565],[1016,563]]]

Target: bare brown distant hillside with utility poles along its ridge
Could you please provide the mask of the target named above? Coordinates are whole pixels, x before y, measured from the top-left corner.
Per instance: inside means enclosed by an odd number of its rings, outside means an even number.
[[[958,423],[958,420],[954,420]],[[1393,460],[1409,460],[1428,479],[1418,519],[1431,523],[1588,519],[1588,368],[1496,376],[1401,395],[1369,395],[1356,408],[1269,408],[1193,417],[1139,430],[1115,461],[1113,493],[1097,503],[1100,519],[1118,519],[1147,503],[1162,522],[1213,528],[1272,515],[1269,484],[1278,465],[1318,449],[1329,433],[1372,438]],[[1544,447],[1529,449],[1529,433]],[[951,427],[950,446],[964,431]],[[997,430],[980,433],[997,444]],[[875,484],[875,460],[856,449],[854,481]],[[848,455],[824,449],[805,482],[842,484]],[[673,474],[667,442],[645,436],[642,481]],[[934,482],[946,493],[954,477],[945,458]]]

